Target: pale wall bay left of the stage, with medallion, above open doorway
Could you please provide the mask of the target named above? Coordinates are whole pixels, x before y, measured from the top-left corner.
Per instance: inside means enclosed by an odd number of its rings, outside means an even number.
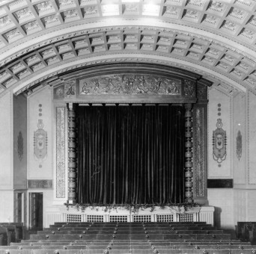
[[[28,97],[28,195],[43,193],[43,223],[46,207],[53,202],[54,122],[52,88],[44,87]],[[29,216],[29,214],[28,214]]]

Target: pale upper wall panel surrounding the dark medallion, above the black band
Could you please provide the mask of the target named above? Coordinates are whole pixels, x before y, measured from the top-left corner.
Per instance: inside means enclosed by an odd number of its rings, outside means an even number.
[[[231,97],[213,87],[209,90],[208,105],[208,179],[230,179],[232,178],[232,142],[231,142]],[[220,107],[218,105],[221,105]],[[221,111],[218,111],[218,108]],[[221,114],[220,116],[218,115]],[[227,156],[222,163],[213,159],[213,131],[216,130],[218,119],[222,119],[222,129],[227,135]],[[233,123],[232,123],[233,124]]]

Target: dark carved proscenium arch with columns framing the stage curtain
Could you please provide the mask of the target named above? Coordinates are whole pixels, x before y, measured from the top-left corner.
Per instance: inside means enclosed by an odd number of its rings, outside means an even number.
[[[135,76],[137,79],[141,75],[147,78],[155,77],[156,79],[165,79],[168,84],[174,84],[177,80],[180,81],[180,92],[169,94],[164,93],[83,93],[82,86],[91,82],[94,79],[100,82],[100,87],[104,87],[104,82],[108,78],[115,78],[119,76],[119,82],[124,82],[124,75],[131,77]],[[103,78],[103,79],[102,79]],[[166,79],[167,78],[167,79]],[[122,80],[122,81],[121,81]],[[173,80],[173,81],[171,81]],[[176,80],[176,81],[175,81]],[[119,83],[118,83],[119,84]],[[146,84],[146,83],[145,83]],[[91,105],[100,104],[183,104],[185,105],[185,193],[186,200],[192,202],[199,202],[207,204],[207,87],[212,82],[202,78],[201,75],[189,72],[188,70],[178,69],[170,66],[162,66],[156,64],[94,64],[94,66],[87,66],[84,68],[73,70],[65,75],[61,75],[55,80],[50,81],[50,85],[54,87],[53,98],[58,102],[62,100],[68,105],[68,144],[69,158],[68,158],[68,176],[69,176],[69,202],[74,204],[76,202],[76,106],[74,104]],[[105,84],[106,85],[106,84]],[[164,84],[162,84],[165,86]],[[192,89],[195,92],[191,93]],[[90,85],[89,85],[90,86]],[[179,85],[178,85],[179,86]],[[70,95],[70,87],[73,87],[73,93]],[[136,85],[134,84],[134,87]],[[88,88],[87,88],[88,89]],[[136,89],[136,88],[135,88]],[[64,92],[59,92],[59,91]],[[165,90],[165,89],[164,89]],[[193,110],[193,111],[192,111]],[[192,126],[192,119],[195,123]],[[192,131],[193,129],[193,131]],[[200,130],[200,131],[198,131]],[[193,137],[193,138],[192,138]],[[195,146],[192,139],[195,140]],[[198,140],[199,143],[198,143]],[[200,146],[200,149],[198,149]],[[193,150],[193,151],[192,151]],[[193,157],[193,158],[192,158]],[[192,161],[197,161],[195,167],[192,166]]]

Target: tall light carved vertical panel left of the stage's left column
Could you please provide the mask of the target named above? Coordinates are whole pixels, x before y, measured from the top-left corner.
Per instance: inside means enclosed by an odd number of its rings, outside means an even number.
[[[65,108],[56,108],[56,197],[65,197]]]

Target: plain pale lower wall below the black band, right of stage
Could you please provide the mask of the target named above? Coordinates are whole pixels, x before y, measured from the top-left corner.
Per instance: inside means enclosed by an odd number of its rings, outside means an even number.
[[[213,205],[214,225],[222,229],[234,229],[234,190],[231,188],[208,189],[209,205]]]

